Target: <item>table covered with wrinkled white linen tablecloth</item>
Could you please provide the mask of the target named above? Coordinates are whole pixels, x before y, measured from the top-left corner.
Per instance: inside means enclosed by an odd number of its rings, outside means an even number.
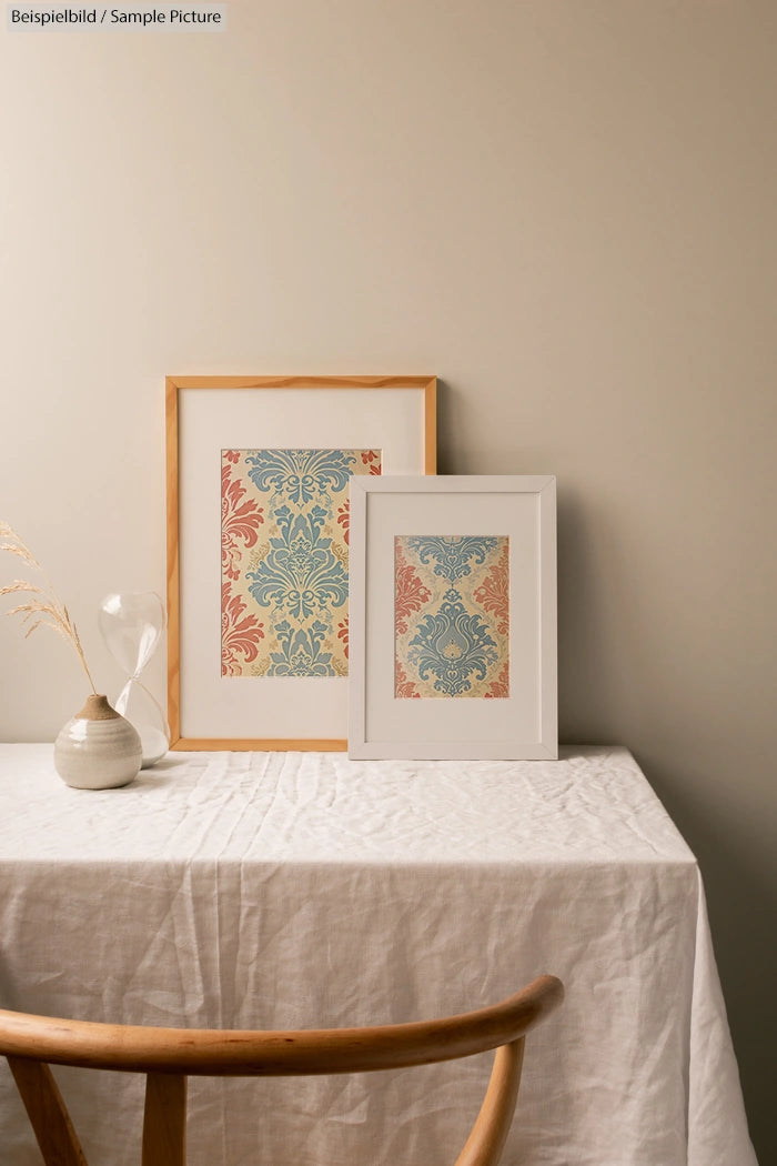
[[[59,781],[50,745],[0,745],[1,1006],[394,1023],[542,971],[567,996],[529,1037],[504,1166],[754,1166],[697,863],[626,750],[171,753],[86,792]],[[192,1081],[192,1166],[447,1166],[489,1063]],[[142,1083],[59,1079],[90,1161],[135,1166]],[[0,1145],[3,1166],[40,1166],[7,1075]]]

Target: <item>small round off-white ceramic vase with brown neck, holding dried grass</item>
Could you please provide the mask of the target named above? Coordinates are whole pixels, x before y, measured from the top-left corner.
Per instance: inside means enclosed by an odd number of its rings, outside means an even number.
[[[115,789],[137,777],[142,747],[136,730],[105,696],[86,704],[59,730],[54,764],[62,780],[76,789]]]

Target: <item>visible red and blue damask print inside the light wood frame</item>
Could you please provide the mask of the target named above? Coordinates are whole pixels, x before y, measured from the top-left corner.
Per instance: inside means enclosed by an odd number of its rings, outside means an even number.
[[[221,455],[221,673],[348,672],[348,479],[381,451]]]

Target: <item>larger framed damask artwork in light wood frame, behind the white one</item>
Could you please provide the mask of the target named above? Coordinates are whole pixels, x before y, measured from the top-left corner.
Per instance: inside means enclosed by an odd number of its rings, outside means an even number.
[[[172,749],[345,750],[353,475],[436,469],[433,377],[168,377]]]

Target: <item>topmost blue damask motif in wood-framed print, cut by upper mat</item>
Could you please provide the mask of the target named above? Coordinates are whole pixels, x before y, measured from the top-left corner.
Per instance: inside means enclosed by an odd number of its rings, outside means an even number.
[[[274,490],[296,506],[345,490],[355,464],[355,456],[341,449],[260,449],[246,457],[259,490]]]

